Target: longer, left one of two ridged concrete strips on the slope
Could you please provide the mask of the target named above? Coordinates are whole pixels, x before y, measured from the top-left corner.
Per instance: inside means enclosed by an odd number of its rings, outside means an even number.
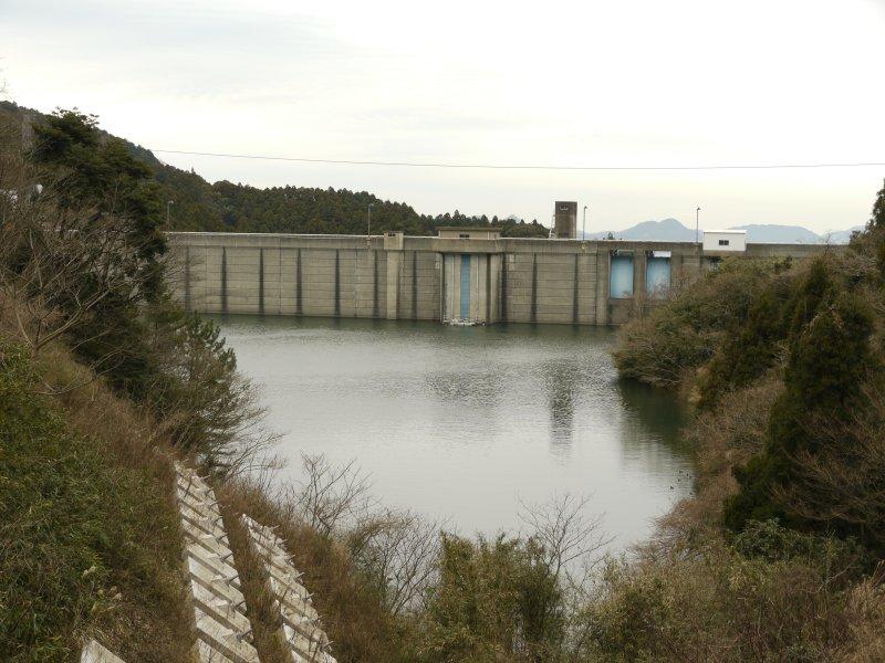
[[[212,488],[196,472],[175,464],[176,495],[185,535],[185,577],[194,606],[199,663],[258,663],[252,627],[233,567]]]

